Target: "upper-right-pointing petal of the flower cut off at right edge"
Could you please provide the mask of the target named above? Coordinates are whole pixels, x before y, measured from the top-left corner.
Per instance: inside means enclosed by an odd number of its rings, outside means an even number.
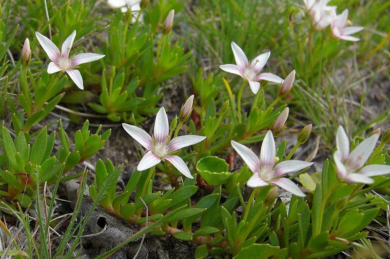
[[[378,140],[379,135],[374,134],[370,138],[365,139],[357,147],[355,147],[350,156],[348,157],[347,163],[352,170],[357,170],[361,168],[367,160],[370,158],[372,151],[375,148],[376,140]]]

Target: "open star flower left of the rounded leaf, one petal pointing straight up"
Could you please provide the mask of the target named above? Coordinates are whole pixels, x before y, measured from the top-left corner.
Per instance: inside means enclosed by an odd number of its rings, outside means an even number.
[[[138,171],[149,169],[161,162],[161,159],[165,159],[171,162],[180,173],[184,174],[188,178],[194,178],[183,159],[177,155],[169,154],[183,147],[199,143],[206,137],[188,135],[179,136],[170,140],[168,117],[164,107],[161,107],[156,115],[154,141],[153,138],[146,133],[146,131],[138,128],[137,126],[126,123],[122,123],[122,126],[131,137],[137,140],[139,144],[148,150],[148,152],[142,157],[141,161],[139,161],[137,166]]]

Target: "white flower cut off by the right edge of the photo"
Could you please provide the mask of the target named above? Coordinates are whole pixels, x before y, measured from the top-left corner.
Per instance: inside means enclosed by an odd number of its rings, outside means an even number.
[[[370,158],[378,138],[378,134],[373,134],[363,140],[350,153],[350,140],[344,128],[342,126],[338,127],[336,135],[337,150],[333,154],[333,160],[339,179],[344,179],[348,183],[372,184],[374,180],[370,176],[390,173],[389,165],[372,164],[363,167]]]

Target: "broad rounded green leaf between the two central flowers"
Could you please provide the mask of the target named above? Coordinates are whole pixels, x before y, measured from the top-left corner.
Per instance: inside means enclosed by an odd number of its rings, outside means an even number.
[[[209,185],[226,184],[233,175],[229,172],[229,164],[217,156],[201,158],[196,163],[196,171]]]

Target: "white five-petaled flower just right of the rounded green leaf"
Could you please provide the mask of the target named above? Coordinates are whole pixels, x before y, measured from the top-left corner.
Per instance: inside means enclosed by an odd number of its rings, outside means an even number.
[[[279,158],[276,156],[275,141],[273,140],[271,131],[267,132],[263,144],[261,145],[260,159],[248,147],[235,142],[234,140],[232,140],[231,143],[234,150],[241,156],[249,169],[254,173],[252,177],[249,178],[247,186],[254,188],[266,185],[277,185],[296,196],[306,196],[292,180],[281,176],[307,168],[313,163],[300,160],[288,160],[276,164]]]

